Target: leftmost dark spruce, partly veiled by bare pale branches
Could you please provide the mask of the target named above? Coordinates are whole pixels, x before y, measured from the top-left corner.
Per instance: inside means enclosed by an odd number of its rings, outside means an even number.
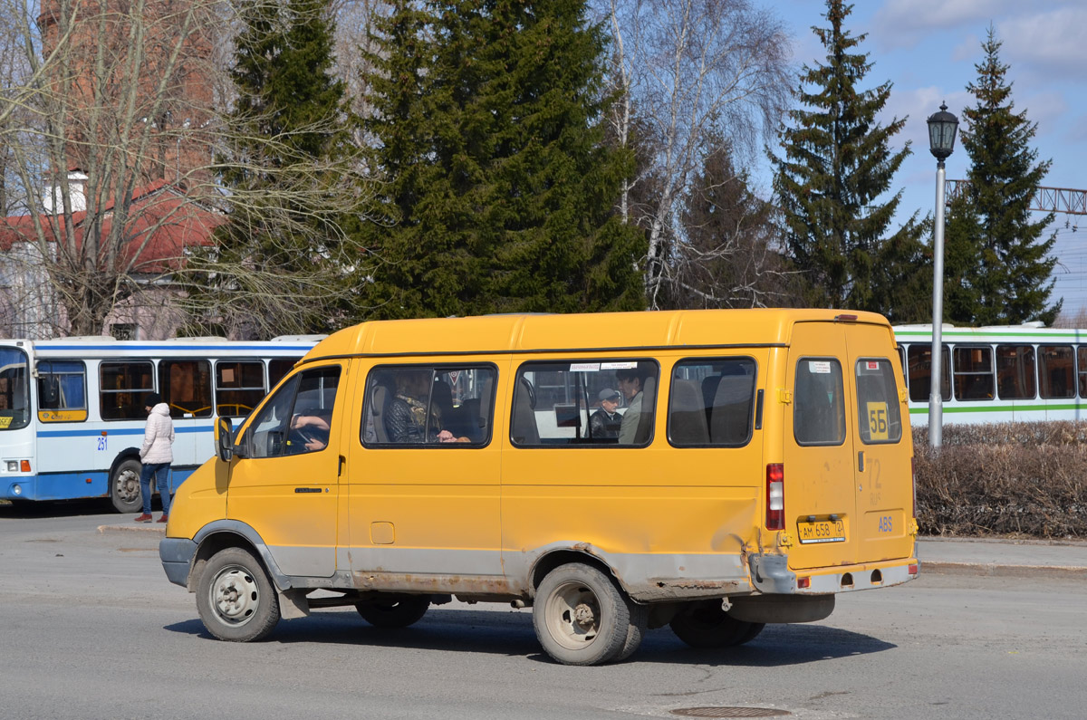
[[[218,153],[229,213],[190,263],[197,272],[187,289],[203,308],[196,324],[266,336],[342,322],[342,245],[357,228],[328,13],[326,0],[241,7],[238,97]]]

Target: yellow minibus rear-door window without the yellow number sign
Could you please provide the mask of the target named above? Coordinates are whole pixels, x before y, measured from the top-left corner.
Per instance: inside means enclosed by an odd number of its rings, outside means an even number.
[[[803,358],[797,363],[792,433],[798,445],[846,442],[846,404],[841,363],[835,358]]]

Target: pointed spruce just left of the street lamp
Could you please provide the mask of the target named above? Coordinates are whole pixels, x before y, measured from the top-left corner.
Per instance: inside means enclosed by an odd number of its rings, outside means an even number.
[[[902,191],[877,202],[911,152],[909,141],[890,148],[905,120],[876,123],[891,84],[859,88],[872,63],[867,53],[851,51],[866,36],[844,27],[852,5],[827,0],[826,8],[830,27],[812,28],[826,48],[826,64],[804,65],[795,91],[802,107],[789,113],[795,125],[782,131],[785,157],[771,158],[785,246],[808,303],[916,320],[915,308],[901,307],[901,288],[924,286],[922,276],[930,273],[921,240],[927,223],[914,213],[888,236]]]

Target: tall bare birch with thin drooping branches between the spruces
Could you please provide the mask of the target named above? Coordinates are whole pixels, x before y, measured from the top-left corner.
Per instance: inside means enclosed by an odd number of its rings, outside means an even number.
[[[780,22],[747,0],[609,0],[607,14],[613,136],[651,148],[619,212],[648,235],[646,301],[657,309],[677,295],[666,287],[677,277],[671,269],[695,252],[683,204],[703,158],[724,147],[751,157],[773,131],[788,98],[789,42]],[[732,251],[726,243],[717,255]]]

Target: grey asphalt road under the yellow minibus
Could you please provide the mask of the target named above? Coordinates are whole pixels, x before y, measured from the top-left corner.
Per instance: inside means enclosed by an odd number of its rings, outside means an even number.
[[[453,604],[398,631],[353,610],[213,640],[171,585],[159,534],[100,534],[100,506],[0,507],[0,717],[677,717],[744,707],[797,718],[1083,718],[1087,580],[932,573],[839,596],[828,619],[730,651],[651,631],[627,662],[569,668],[528,610]],[[714,717],[702,715],[701,717]],[[720,716],[716,716],[720,717]],[[751,717],[751,716],[748,716]]]

